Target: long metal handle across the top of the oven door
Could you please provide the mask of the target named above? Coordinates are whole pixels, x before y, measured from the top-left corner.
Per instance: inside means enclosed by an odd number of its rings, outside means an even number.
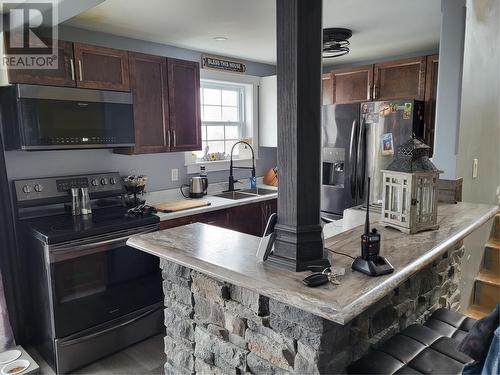
[[[129,234],[126,236],[94,242],[94,243],[72,244],[66,248],[60,248],[57,250],[49,251],[49,261],[50,263],[57,263],[69,259],[80,258],[85,255],[96,254],[116,249],[118,247],[125,246],[127,240],[134,235],[150,233],[154,232],[155,230],[156,229],[151,229],[149,231]]]

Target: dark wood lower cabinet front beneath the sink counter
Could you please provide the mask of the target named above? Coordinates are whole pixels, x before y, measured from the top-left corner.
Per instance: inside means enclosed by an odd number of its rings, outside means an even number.
[[[260,237],[264,233],[267,219],[273,212],[277,211],[277,205],[277,199],[271,199],[211,211],[205,214],[165,220],[160,223],[160,229],[169,229],[192,223],[204,223]]]

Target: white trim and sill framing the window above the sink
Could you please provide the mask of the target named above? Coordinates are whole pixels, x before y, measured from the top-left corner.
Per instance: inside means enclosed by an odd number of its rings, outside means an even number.
[[[245,108],[244,115],[244,124],[245,131],[242,131],[241,136],[244,138],[251,138],[252,147],[255,151],[255,159],[258,159],[259,153],[259,139],[258,139],[258,130],[259,130],[259,97],[258,97],[258,87],[260,83],[260,77],[244,75],[244,74],[234,74],[234,73],[226,73],[219,72],[208,69],[200,70],[200,78],[202,82],[221,85],[237,85],[244,87],[245,90],[245,102],[243,106]],[[200,90],[201,91],[201,90]],[[201,102],[201,100],[200,100]],[[224,171],[229,170],[229,160],[220,160],[220,161],[202,161],[197,160],[191,152],[186,152],[185,154],[185,165],[187,168],[188,174],[198,173],[200,171],[200,165],[204,165],[208,172],[210,171]],[[234,165],[236,166],[251,166],[252,161],[251,158],[247,159],[234,159]]]

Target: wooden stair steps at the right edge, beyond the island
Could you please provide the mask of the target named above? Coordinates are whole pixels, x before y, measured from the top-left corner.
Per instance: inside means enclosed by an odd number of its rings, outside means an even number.
[[[474,281],[472,305],[466,314],[474,319],[488,315],[500,302],[500,214],[495,216],[485,245],[481,271]]]

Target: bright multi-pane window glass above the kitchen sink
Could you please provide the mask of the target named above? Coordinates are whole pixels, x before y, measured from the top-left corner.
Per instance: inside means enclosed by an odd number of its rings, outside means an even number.
[[[208,152],[231,153],[231,148],[245,136],[245,86],[201,82],[202,158]],[[234,156],[239,148],[235,147]]]

